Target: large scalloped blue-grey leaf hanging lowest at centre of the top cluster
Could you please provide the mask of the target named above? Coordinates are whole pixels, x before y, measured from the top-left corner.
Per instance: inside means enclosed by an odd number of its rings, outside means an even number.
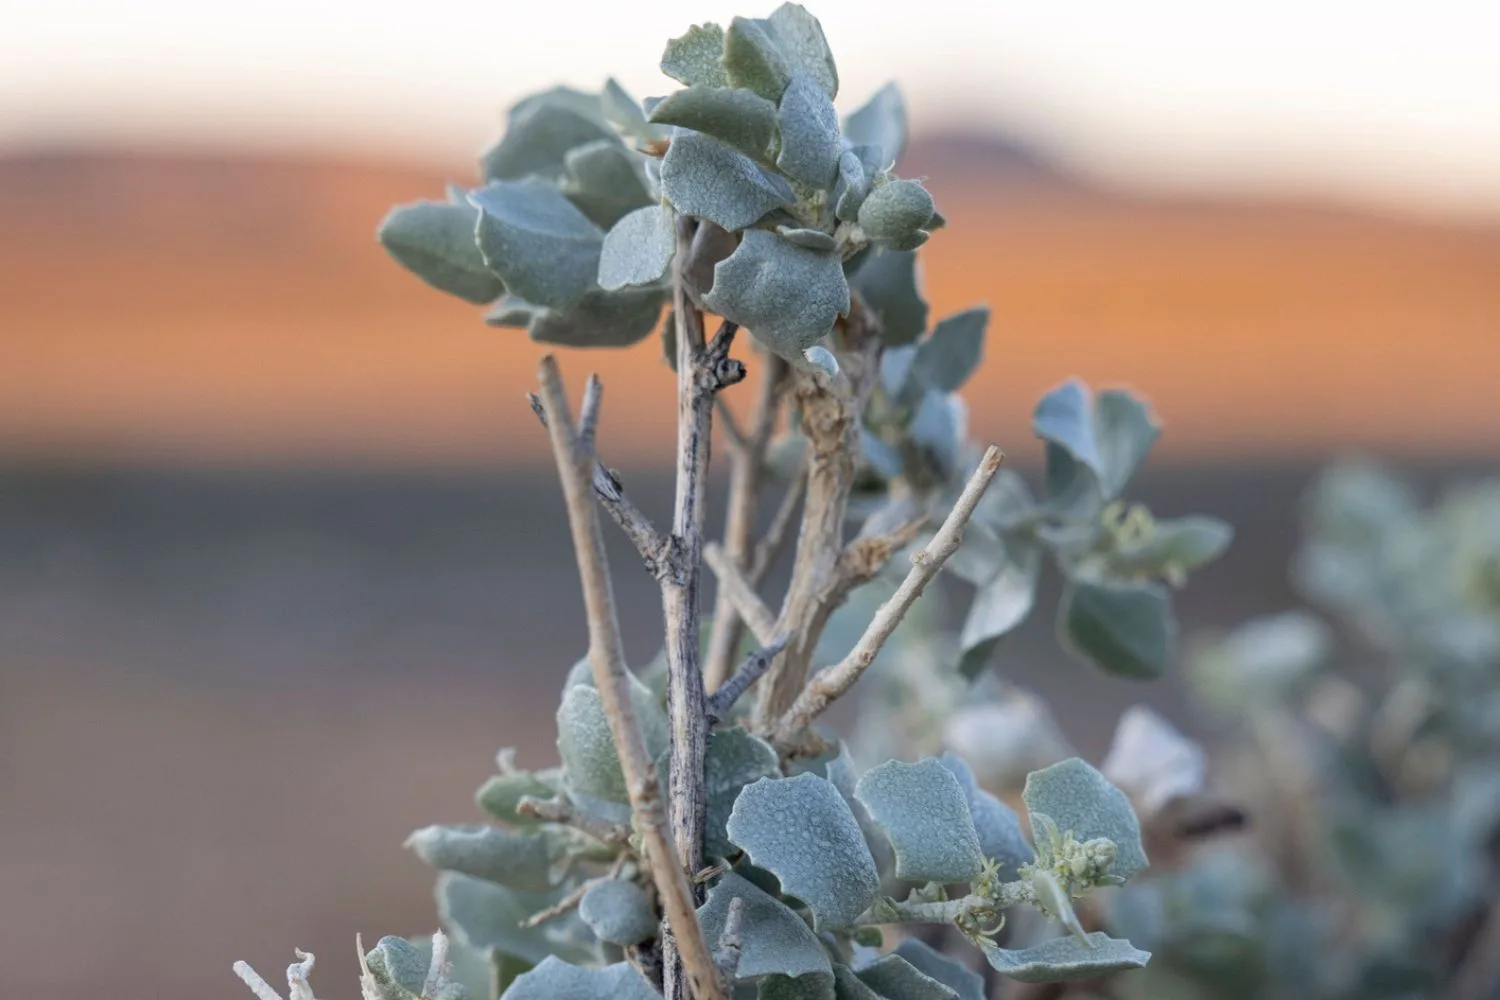
[[[832,253],[750,229],[714,268],[704,304],[738,322],[788,360],[820,340],[849,312],[849,285]]]

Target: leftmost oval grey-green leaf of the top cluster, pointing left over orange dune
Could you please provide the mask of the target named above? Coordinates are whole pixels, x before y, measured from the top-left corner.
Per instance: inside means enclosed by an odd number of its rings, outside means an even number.
[[[506,285],[484,265],[474,243],[477,222],[478,211],[468,202],[417,201],[392,208],[378,237],[408,271],[438,291],[482,306],[504,295]]]

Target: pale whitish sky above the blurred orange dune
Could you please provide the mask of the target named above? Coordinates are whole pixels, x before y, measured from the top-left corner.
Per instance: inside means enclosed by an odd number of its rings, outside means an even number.
[[[280,145],[462,162],[554,82],[777,0],[0,0],[0,153]],[[852,108],[972,120],[1102,177],[1500,217],[1500,0],[813,0]]]

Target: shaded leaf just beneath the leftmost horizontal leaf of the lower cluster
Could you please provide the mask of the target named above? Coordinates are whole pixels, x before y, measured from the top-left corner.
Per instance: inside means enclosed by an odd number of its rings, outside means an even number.
[[[456,871],[438,874],[436,883],[438,916],[458,942],[482,952],[495,949],[528,963],[538,963],[554,952],[568,958],[586,955],[586,951],[560,933],[560,925],[567,924],[566,918],[542,927],[520,927],[528,916],[560,898],[560,891],[518,892]]]

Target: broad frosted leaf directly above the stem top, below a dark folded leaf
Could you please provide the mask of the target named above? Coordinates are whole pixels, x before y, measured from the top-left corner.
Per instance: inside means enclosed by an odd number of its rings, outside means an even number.
[[[662,160],[662,193],[684,216],[723,229],[744,229],[796,201],[784,178],[702,132],[672,139]]]

